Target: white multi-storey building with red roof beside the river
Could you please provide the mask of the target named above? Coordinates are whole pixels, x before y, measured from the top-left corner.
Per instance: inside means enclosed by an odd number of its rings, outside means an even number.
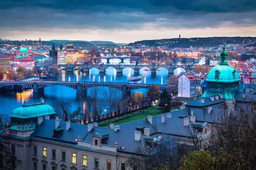
[[[183,74],[178,80],[178,96],[194,97],[196,91],[198,95],[202,94],[201,82],[204,80],[205,74]]]

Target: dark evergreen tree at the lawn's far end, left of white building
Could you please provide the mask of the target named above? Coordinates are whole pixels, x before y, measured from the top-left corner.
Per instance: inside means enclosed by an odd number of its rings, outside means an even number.
[[[172,100],[171,95],[168,94],[166,90],[164,90],[160,94],[160,102],[158,104],[157,109],[163,111],[164,113],[169,112],[171,109],[171,100]]]

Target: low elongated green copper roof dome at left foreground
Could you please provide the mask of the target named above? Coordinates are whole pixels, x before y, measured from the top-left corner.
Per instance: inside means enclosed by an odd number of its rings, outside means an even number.
[[[25,101],[24,101],[25,102]],[[11,118],[27,119],[39,116],[46,116],[55,114],[52,106],[44,105],[44,103],[22,105],[20,108],[16,108],[12,111]]]

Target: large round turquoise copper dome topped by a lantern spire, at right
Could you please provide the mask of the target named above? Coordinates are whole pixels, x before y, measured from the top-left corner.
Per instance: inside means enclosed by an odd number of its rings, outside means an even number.
[[[221,51],[221,61],[219,65],[212,68],[206,78],[207,82],[239,82],[239,75],[235,68],[233,68],[227,62],[227,51],[225,51],[225,46],[223,51]]]

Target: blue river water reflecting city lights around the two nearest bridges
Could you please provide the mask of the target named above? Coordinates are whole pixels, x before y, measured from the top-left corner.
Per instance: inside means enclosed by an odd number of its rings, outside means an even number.
[[[166,84],[166,80],[169,78],[168,70],[166,68],[160,68],[157,71],[157,74],[154,76],[151,76],[151,71],[147,71],[145,69],[146,68],[140,69],[140,75],[145,76],[144,80],[130,83],[154,83],[158,85]],[[174,74],[179,74],[181,71],[183,71],[182,69],[183,68],[176,69]],[[73,71],[73,73],[60,71],[60,74],[58,75],[58,81],[127,83],[128,77],[134,77],[134,71],[132,68],[125,68],[121,75],[116,74],[115,68],[107,68],[105,75],[99,74],[99,70],[97,68],[91,68],[90,73],[85,75],[80,71]],[[145,89],[139,89],[137,91],[145,92]],[[90,95],[90,91],[88,95]],[[44,99],[44,103],[47,105],[50,105],[52,102],[59,100],[71,102],[72,110],[75,110],[78,105],[82,105],[82,103],[76,98],[76,90],[60,85],[55,85],[44,88],[43,94],[33,94],[32,89],[20,91],[0,91],[0,113],[7,113],[11,115],[15,108],[22,106],[24,99],[26,100],[26,104],[33,104],[40,102],[41,97]]]

